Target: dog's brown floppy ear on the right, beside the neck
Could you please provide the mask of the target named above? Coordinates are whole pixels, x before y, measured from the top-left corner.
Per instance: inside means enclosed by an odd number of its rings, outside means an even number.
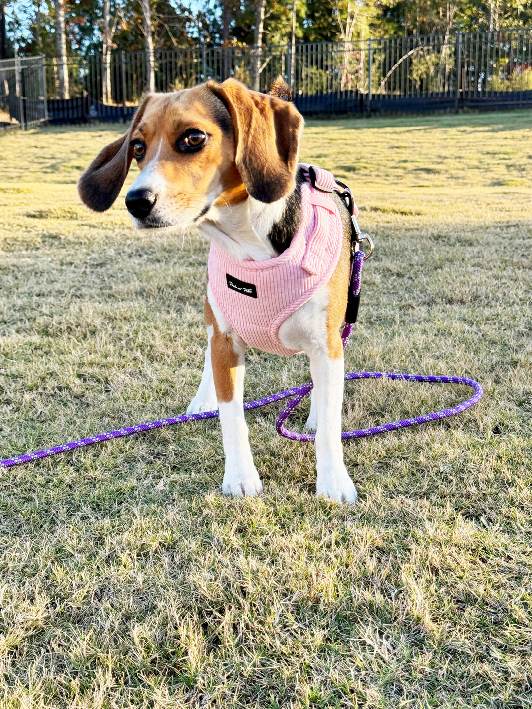
[[[303,116],[293,104],[250,91],[236,79],[207,86],[225,104],[235,132],[235,163],[245,189],[275,202],[295,187]]]

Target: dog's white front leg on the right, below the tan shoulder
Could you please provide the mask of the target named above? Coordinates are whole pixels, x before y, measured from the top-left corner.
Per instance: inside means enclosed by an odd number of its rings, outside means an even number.
[[[334,349],[336,357],[331,357],[331,352],[321,347],[309,351],[317,414],[316,494],[342,503],[355,501],[357,491],[343,462],[341,342]]]

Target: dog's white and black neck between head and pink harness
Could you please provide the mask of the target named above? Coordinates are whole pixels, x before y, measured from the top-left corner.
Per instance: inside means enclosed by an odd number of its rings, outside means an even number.
[[[235,206],[213,206],[199,232],[238,261],[267,261],[286,250],[301,218],[299,184],[288,196],[265,204],[248,196]]]

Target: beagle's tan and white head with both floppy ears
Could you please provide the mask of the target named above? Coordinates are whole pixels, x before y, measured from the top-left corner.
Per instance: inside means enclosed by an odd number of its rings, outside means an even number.
[[[211,206],[248,195],[274,202],[294,189],[302,127],[292,104],[235,79],[148,94],[126,135],[84,172],[79,195],[94,211],[109,209],[134,158],[140,174],[126,206],[138,228],[198,223]]]

